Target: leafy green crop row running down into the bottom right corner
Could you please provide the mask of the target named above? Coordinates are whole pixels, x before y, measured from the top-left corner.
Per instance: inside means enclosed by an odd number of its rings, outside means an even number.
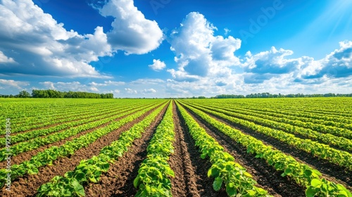
[[[306,187],[306,196],[352,196],[351,192],[341,184],[335,184],[321,178],[322,174],[318,170],[299,163],[291,156],[285,155],[271,146],[266,146],[262,141],[215,120],[201,110],[197,110],[187,104],[184,105],[220,132],[230,136],[234,141],[246,147],[249,153],[256,155],[256,158],[265,159],[269,165],[282,172],[282,177],[288,176],[294,179],[297,184]]]

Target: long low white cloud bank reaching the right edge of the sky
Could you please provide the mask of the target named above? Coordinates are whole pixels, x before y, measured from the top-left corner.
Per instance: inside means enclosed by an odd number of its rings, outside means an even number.
[[[291,74],[292,82],[301,84],[321,84],[326,79],[352,76],[352,42],[340,42],[340,49],[320,60],[303,56],[289,58],[294,52],[285,49],[263,51],[252,55],[246,53],[242,64],[244,82],[262,83],[265,80],[279,78],[280,75]]]

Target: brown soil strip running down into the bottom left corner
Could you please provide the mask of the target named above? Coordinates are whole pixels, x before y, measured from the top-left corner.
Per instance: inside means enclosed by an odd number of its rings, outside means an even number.
[[[156,108],[158,108],[159,106],[157,106]],[[74,170],[81,160],[86,160],[92,158],[92,156],[94,155],[99,155],[101,148],[103,148],[104,146],[108,146],[113,141],[117,140],[122,132],[127,131],[134,124],[137,124],[138,122],[142,121],[144,117],[151,114],[153,110],[156,110],[156,108],[153,108],[147,113],[144,113],[144,115],[137,118],[137,120],[129,122],[126,125],[120,127],[119,129],[116,129],[113,132],[106,134],[105,136],[101,136],[101,138],[94,141],[94,143],[89,144],[89,146],[76,151],[73,155],[70,156],[70,158],[59,158],[58,160],[55,160],[53,162],[53,165],[41,167],[39,169],[38,174],[27,174],[24,177],[15,179],[11,184],[11,191],[6,191],[6,187],[4,187],[0,191],[0,196],[34,196],[39,186],[45,184],[46,182],[50,182],[50,180],[56,175],[63,176],[65,172]]]

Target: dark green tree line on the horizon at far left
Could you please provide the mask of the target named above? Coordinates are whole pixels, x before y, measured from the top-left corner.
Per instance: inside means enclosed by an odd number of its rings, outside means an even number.
[[[33,89],[32,94],[28,91],[20,91],[17,95],[2,95],[0,98],[113,98],[112,93],[98,94],[84,91],[56,91],[53,89]]]

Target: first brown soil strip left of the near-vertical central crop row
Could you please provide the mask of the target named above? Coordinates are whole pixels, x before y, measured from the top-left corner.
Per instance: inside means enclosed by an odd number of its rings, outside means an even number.
[[[165,106],[153,123],[142,134],[142,138],[135,139],[132,146],[118,158],[118,161],[110,166],[108,172],[101,176],[98,184],[89,183],[84,187],[86,196],[134,196],[137,189],[133,186],[134,178],[137,177],[139,165],[146,158],[146,147],[153,137],[156,127],[163,119]]]

